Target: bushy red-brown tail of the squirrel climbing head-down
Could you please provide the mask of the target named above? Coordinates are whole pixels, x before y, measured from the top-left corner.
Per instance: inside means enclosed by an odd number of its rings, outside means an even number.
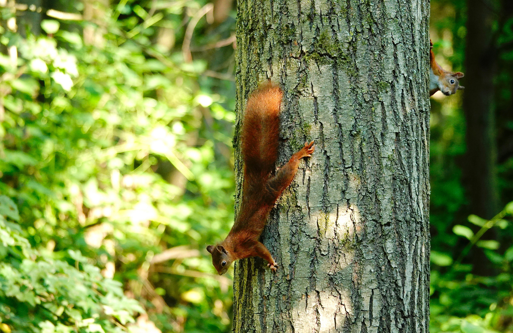
[[[278,157],[282,90],[271,83],[261,85],[249,96],[242,121],[242,154],[245,177],[263,182]]]

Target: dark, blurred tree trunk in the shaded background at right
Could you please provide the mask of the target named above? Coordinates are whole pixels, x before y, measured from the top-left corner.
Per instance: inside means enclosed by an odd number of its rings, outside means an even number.
[[[467,0],[465,52],[466,159],[465,182],[470,213],[491,219],[498,213],[497,146],[495,141],[494,77],[497,55],[492,46],[495,2]]]

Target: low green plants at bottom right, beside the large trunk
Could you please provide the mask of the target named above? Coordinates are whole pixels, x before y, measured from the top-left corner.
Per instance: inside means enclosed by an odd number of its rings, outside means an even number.
[[[511,207],[513,202],[489,221],[470,216],[469,222],[481,227],[476,234],[468,226],[455,226],[453,232],[468,240],[455,261],[446,254],[431,252],[431,262],[436,266],[431,271],[430,331],[495,332],[506,328],[504,319],[513,315],[513,246],[504,251],[497,241],[479,238],[490,228],[513,229]],[[485,248],[486,256],[498,269],[496,276],[473,275],[472,266],[462,264],[472,246]]]

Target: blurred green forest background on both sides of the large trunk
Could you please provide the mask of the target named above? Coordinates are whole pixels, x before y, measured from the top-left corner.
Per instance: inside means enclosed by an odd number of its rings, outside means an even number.
[[[0,0],[0,331],[229,332],[232,0]],[[513,2],[431,0],[431,331],[513,332]]]

